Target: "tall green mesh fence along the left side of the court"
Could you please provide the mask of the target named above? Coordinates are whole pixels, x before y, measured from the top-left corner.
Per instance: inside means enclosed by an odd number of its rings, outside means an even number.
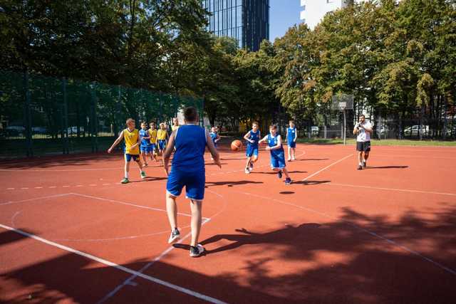
[[[199,98],[0,71],[0,157],[98,152],[128,117],[170,126],[187,106],[203,117]]]

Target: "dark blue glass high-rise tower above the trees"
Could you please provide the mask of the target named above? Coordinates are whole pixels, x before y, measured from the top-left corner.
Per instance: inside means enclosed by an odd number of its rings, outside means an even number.
[[[203,0],[211,16],[207,31],[236,38],[240,48],[258,51],[269,39],[269,0]]]

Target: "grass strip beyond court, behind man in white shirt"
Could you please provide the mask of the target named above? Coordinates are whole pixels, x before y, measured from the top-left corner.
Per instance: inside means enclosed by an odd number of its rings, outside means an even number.
[[[340,138],[298,138],[298,142],[304,144],[314,145],[343,145],[343,140]],[[347,138],[347,145],[355,145],[354,138]],[[447,146],[456,147],[456,141],[443,141],[443,140],[371,140],[373,146]]]

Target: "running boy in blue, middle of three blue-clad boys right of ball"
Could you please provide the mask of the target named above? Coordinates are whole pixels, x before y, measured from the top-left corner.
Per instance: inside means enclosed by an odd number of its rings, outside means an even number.
[[[291,184],[291,178],[286,170],[285,152],[282,146],[281,136],[277,134],[277,125],[269,127],[269,134],[266,135],[261,142],[267,142],[266,151],[271,152],[271,169],[277,172],[279,179],[282,178],[282,172],[285,174],[285,184]]]

